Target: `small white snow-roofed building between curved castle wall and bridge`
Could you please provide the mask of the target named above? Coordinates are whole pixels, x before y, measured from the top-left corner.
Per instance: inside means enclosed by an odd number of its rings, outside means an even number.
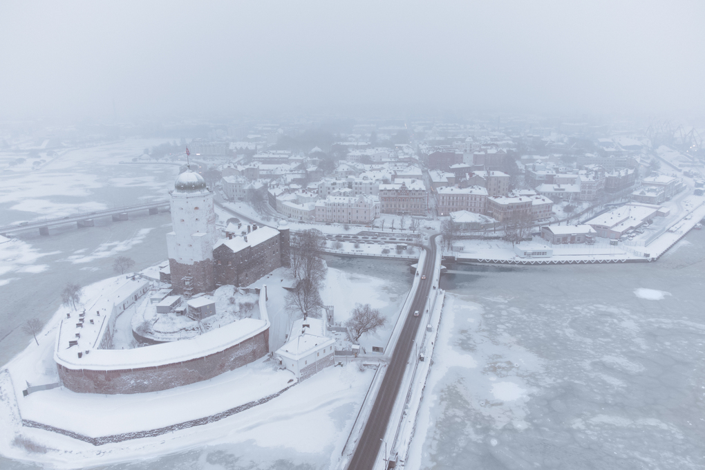
[[[274,355],[302,381],[334,364],[335,343],[324,321],[308,317],[293,322],[288,342]]]

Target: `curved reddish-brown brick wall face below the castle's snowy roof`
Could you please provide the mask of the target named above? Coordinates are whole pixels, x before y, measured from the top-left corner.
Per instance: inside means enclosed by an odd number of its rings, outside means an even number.
[[[269,328],[226,350],[190,361],[121,371],[68,369],[61,364],[57,368],[63,386],[74,392],[106,395],[157,392],[206,381],[250,364],[268,352]]]

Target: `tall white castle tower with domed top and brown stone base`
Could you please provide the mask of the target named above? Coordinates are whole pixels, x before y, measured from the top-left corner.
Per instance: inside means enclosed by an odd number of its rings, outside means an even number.
[[[171,287],[187,297],[215,288],[213,245],[216,214],[213,192],[190,168],[178,175],[171,191],[173,232],[166,234]]]

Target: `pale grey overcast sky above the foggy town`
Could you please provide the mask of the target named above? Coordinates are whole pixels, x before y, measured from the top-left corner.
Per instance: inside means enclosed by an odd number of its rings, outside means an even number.
[[[0,119],[698,113],[704,1],[0,1]]]

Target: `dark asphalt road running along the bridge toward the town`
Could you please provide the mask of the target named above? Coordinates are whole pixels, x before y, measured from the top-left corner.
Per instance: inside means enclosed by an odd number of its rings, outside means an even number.
[[[384,374],[384,379],[382,379],[382,385],[374,400],[369,419],[364,426],[364,431],[362,431],[360,442],[357,443],[355,454],[350,459],[350,465],[348,465],[350,470],[372,470],[379,454],[382,439],[389,423],[389,417],[409,362],[409,355],[412,352],[413,340],[416,338],[419,325],[423,321],[428,320],[428,316],[424,316],[424,309],[426,308],[431,285],[433,285],[433,273],[436,267],[436,237],[438,236],[439,234],[431,236],[431,246],[426,247],[427,261],[424,263],[424,270],[421,273],[422,276],[426,276],[426,279],[419,282],[411,309],[397,340],[391,361],[389,361],[389,366]],[[418,310],[421,314],[414,316],[415,310]]]

